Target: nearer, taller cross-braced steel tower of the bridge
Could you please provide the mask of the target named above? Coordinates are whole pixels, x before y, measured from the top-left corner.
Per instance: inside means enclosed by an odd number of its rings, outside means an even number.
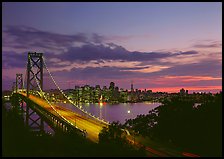
[[[38,86],[39,85],[39,86]],[[28,63],[27,63],[27,98],[29,98],[30,91],[38,91],[39,87],[43,90],[43,53],[28,52]],[[37,127],[31,127],[39,129],[39,132],[44,131],[44,121],[41,117],[36,120],[31,118],[34,111],[30,108],[29,104],[26,106],[26,125]],[[31,121],[31,122],[29,122]],[[39,121],[39,122],[38,122]]]

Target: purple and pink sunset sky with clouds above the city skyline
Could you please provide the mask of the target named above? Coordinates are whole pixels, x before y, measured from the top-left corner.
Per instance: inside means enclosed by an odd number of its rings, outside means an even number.
[[[28,52],[44,53],[62,89],[222,90],[221,2],[5,2],[2,35],[3,90]]]

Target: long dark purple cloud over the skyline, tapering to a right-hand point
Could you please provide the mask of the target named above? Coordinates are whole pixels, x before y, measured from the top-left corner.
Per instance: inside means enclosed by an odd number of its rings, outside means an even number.
[[[71,47],[58,58],[67,61],[75,60],[123,60],[123,61],[154,61],[160,58],[175,56],[171,53],[160,52],[130,52],[125,48],[113,44],[113,48],[103,44],[86,44],[82,47]]]

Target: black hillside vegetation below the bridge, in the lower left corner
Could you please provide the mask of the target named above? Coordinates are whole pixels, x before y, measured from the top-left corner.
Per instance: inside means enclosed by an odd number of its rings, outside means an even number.
[[[36,136],[25,126],[18,110],[6,110],[2,102],[2,155],[3,157],[78,157],[78,156],[145,156],[142,150],[115,140],[103,138],[92,143],[78,134]],[[104,141],[105,140],[105,141]],[[113,140],[113,139],[112,139]]]

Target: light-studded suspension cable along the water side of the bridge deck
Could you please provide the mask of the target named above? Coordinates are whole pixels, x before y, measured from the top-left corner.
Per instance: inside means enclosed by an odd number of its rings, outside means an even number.
[[[46,65],[46,63],[45,63],[45,59],[44,59],[44,58],[43,58],[43,62],[44,62],[44,66],[45,66],[47,72],[49,73],[51,79],[53,80],[55,86],[60,90],[60,92],[63,94],[63,96],[64,96],[64,97],[65,97],[65,98],[66,98],[72,105],[74,105],[76,108],[78,108],[79,110],[81,110],[83,113],[85,113],[85,114],[91,116],[92,118],[94,118],[94,119],[96,119],[96,120],[99,120],[99,121],[101,121],[101,122],[103,122],[103,123],[105,123],[105,124],[109,124],[109,122],[107,122],[107,121],[105,121],[105,120],[103,120],[103,119],[96,118],[96,117],[95,117],[94,115],[92,115],[91,113],[88,113],[87,111],[85,111],[84,109],[82,109],[81,106],[78,107],[77,105],[75,105],[74,102],[73,102],[72,100],[70,100],[70,99],[64,94],[64,92],[60,89],[60,87],[58,86],[58,84],[55,82],[53,76],[51,75],[50,71],[49,71],[48,68],[47,68],[47,65]]]

